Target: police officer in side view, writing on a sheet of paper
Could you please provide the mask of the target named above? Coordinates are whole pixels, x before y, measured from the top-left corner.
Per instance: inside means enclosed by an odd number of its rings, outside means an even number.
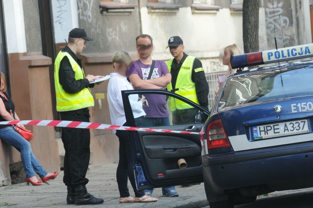
[[[68,45],[57,55],[54,63],[54,84],[57,111],[62,120],[89,122],[88,107],[94,106],[89,84],[101,76],[85,76],[81,59],[77,54],[92,41],[84,29],[74,28],[68,34]],[[62,128],[65,149],[63,182],[67,185],[67,204],[102,204],[103,199],[89,194],[86,173],[90,159],[89,129]]]

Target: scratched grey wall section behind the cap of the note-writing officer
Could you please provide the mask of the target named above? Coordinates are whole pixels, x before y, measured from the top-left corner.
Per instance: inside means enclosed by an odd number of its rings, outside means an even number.
[[[137,5],[137,0],[128,2]],[[88,43],[84,53],[134,51],[134,40],[140,34],[138,8],[136,7],[130,15],[103,16],[99,3],[99,0],[77,0],[79,26],[94,39]]]

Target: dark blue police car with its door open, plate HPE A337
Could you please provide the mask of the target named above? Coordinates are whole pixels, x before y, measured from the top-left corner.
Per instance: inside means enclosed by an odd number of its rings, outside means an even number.
[[[227,77],[210,112],[173,92],[122,92],[132,126],[128,96],[134,93],[172,96],[199,112],[193,123],[153,127],[168,131],[130,132],[137,187],[204,182],[210,208],[313,187],[313,60],[290,61],[307,57],[313,57],[313,44],[233,56],[233,69],[279,63]],[[185,168],[179,168],[179,159]]]

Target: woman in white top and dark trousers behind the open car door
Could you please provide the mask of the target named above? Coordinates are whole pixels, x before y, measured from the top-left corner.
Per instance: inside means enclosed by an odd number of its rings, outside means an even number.
[[[112,57],[112,64],[115,72],[110,74],[111,78],[108,84],[108,102],[112,125],[129,126],[126,122],[121,91],[134,90],[126,78],[126,70],[131,62],[132,59],[130,55],[124,51],[115,52]],[[147,105],[147,101],[143,96],[141,99],[138,99],[138,94],[130,95],[129,99],[136,126],[143,126],[143,123],[141,122],[146,114],[143,111],[142,106],[144,103]],[[115,134],[119,139],[119,162],[116,170],[116,180],[120,193],[119,202],[156,202],[156,198],[147,196],[142,190],[138,191],[136,188],[129,133],[127,131],[117,130]],[[135,197],[130,196],[127,187],[127,177],[133,186]]]

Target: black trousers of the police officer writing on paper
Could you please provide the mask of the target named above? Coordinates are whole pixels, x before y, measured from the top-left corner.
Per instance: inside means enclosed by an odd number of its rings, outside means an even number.
[[[89,109],[60,112],[61,120],[89,122]],[[64,177],[65,185],[86,185],[90,160],[89,129],[62,128],[62,141],[65,149]]]

